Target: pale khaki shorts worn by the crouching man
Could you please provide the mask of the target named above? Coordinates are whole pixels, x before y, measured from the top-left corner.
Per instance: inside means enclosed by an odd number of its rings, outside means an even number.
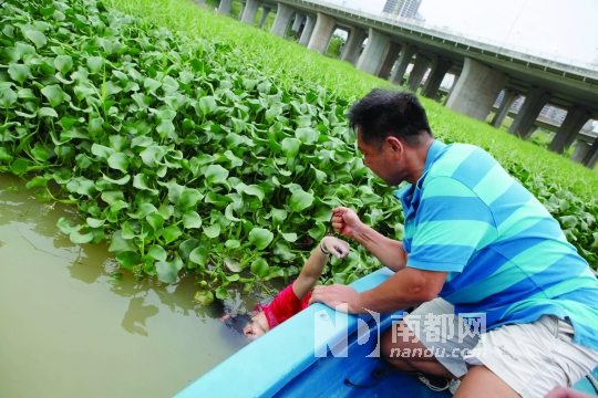
[[[461,315],[435,298],[403,320],[455,377],[485,365],[520,396],[544,397],[556,386],[573,386],[598,365],[598,350],[573,343],[573,326],[556,316],[485,332],[484,314]]]

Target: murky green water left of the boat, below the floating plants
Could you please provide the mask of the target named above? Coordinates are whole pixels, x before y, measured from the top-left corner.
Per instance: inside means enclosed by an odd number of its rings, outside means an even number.
[[[0,397],[169,397],[239,348],[190,277],[115,280],[107,247],[71,243],[60,217],[74,207],[0,175]]]

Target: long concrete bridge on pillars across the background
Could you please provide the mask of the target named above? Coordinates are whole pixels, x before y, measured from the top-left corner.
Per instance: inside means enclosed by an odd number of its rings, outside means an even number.
[[[228,13],[231,2],[221,0],[219,12]],[[326,53],[336,29],[346,30],[349,36],[341,60],[392,83],[403,84],[405,71],[413,63],[406,81],[411,91],[420,87],[430,69],[421,90],[425,97],[436,96],[447,73],[455,75],[445,106],[480,121],[487,118],[503,90],[504,101],[494,125],[499,126],[513,102],[525,96],[508,130],[523,139],[532,135],[546,104],[567,109],[548,148],[559,154],[573,144],[584,124],[590,118],[598,119],[598,70],[532,56],[324,1],[244,0],[240,20],[255,24],[259,8],[262,8],[259,27],[268,12],[276,9],[270,32],[285,36],[292,20],[292,30],[300,32],[299,44],[319,53]],[[598,160],[598,145],[586,149],[576,159],[592,168]]]

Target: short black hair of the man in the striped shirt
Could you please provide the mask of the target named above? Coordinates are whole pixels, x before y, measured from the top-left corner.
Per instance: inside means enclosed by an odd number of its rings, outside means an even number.
[[[406,92],[374,88],[351,106],[348,118],[353,130],[361,127],[363,143],[378,148],[389,135],[412,147],[434,137],[422,104]]]

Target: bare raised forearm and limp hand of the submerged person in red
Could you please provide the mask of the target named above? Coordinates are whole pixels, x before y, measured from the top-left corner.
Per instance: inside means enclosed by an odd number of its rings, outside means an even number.
[[[334,237],[324,237],[320,244],[324,250],[329,251],[330,254],[336,255],[339,259],[344,259],[349,255],[349,243]],[[299,277],[297,277],[292,284],[292,291],[297,298],[303,300],[313,289],[328,262],[328,256],[329,254],[324,254],[320,249],[320,245],[313,249],[311,255],[303,265]]]

